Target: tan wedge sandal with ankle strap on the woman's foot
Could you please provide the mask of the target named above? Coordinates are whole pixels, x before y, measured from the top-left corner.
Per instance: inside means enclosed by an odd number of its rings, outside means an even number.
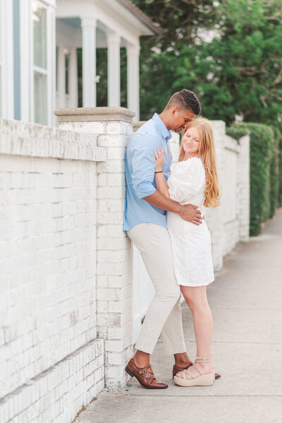
[[[188,368],[179,372],[182,377],[178,377],[177,374],[174,376],[174,383],[176,383],[178,386],[211,386],[215,379],[214,369],[211,373],[202,374],[202,371],[200,371],[200,369],[197,367],[197,363],[208,363],[211,360],[211,355],[209,355],[209,357],[196,357],[194,367],[199,372],[199,376],[192,374]]]

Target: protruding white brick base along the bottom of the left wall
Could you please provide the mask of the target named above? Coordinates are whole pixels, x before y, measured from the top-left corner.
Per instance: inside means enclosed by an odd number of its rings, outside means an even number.
[[[104,388],[103,341],[84,345],[1,401],[0,422],[70,423]]]

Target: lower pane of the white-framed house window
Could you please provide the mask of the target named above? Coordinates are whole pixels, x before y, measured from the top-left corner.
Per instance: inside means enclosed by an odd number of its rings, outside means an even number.
[[[35,122],[47,125],[47,76],[35,72]]]

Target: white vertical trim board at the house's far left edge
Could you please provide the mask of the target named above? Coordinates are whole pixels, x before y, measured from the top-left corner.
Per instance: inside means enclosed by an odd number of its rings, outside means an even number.
[[[1,117],[13,119],[13,1],[0,1],[0,19]]]

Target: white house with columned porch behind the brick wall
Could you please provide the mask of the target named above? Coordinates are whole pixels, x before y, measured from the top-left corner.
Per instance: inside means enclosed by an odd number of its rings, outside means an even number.
[[[77,107],[78,48],[84,50],[83,106],[96,105],[97,48],[108,49],[108,104],[119,106],[119,52],[125,47],[128,107],[137,119],[140,36],[159,32],[126,0],[1,0],[0,117],[54,126],[55,107]]]

